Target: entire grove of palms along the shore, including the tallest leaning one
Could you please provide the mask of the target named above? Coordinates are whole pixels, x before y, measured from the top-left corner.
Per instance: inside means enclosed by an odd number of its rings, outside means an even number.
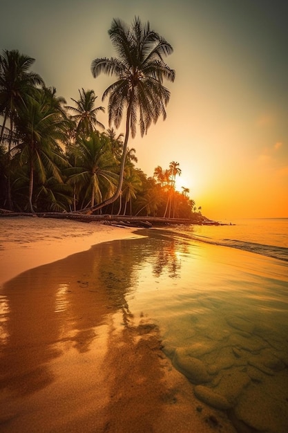
[[[16,212],[94,212],[190,218],[189,190],[175,190],[179,163],[147,177],[135,166],[128,138],[143,136],[162,116],[175,71],[164,63],[171,45],[135,17],[114,19],[108,30],[118,57],[95,59],[94,77],[114,75],[108,98],[109,128],[98,120],[93,90],[79,89],[68,105],[31,71],[35,59],[18,50],[0,55],[0,208]],[[125,123],[125,133],[116,129]]]

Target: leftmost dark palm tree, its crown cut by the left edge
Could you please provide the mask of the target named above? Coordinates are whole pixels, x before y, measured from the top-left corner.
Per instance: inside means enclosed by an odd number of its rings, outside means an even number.
[[[10,118],[10,136],[8,137],[8,176],[7,194],[8,208],[12,209],[10,189],[10,149],[14,140],[14,124],[17,111],[24,103],[26,95],[30,95],[38,84],[44,85],[42,78],[29,71],[35,59],[20,54],[18,50],[3,50],[0,55],[0,114],[3,115],[3,125],[0,132],[0,144],[6,122]]]

